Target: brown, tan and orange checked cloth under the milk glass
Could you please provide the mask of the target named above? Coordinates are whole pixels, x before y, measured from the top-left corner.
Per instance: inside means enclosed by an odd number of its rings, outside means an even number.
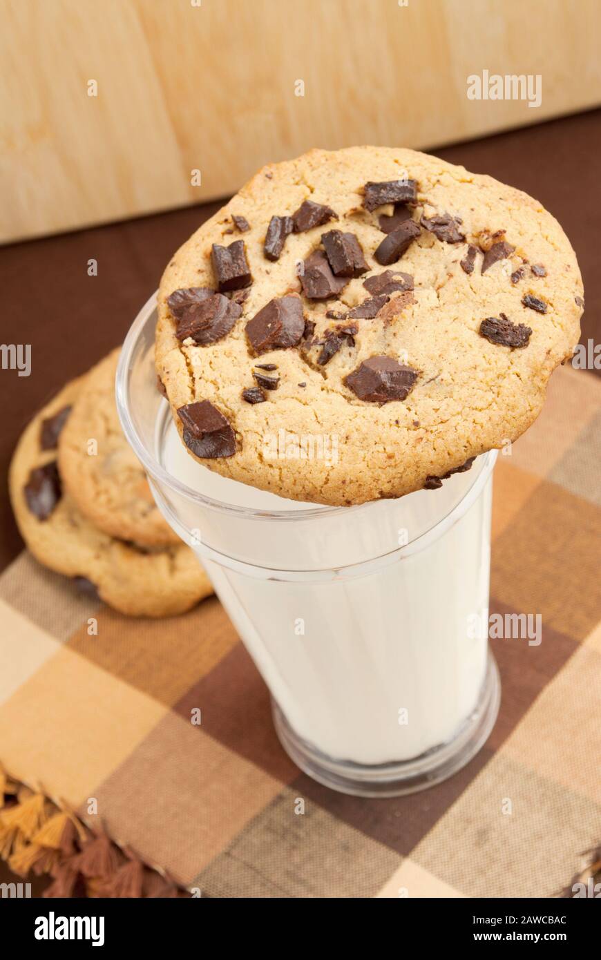
[[[499,719],[451,780],[394,800],[320,786],[215,598],[135,621],[26,552],[0,578],[0,761],[88,823],[95,798],[111,836],[203,896],[554,894],[601,838],[600,426],[601,383],[565,367],[498,458],[491,609],[541,613],[542,642],[493,640]]]

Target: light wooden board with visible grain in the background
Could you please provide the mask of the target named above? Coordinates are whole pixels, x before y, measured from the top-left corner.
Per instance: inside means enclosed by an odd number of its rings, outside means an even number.
[[[312,146],[427,148],[601,100],[601,0],[198,4],[0,0],[0,241],[223,197]],[[468,100],[483,69],[541,74],[541,107]]]

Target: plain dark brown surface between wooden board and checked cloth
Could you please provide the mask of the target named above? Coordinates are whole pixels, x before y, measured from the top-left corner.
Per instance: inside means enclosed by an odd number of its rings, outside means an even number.
[[[596,264],[595,204],[599,181],[601,110],[538,127],[433,150],[469,170],[537,197],[560,221],[577,253],[585,282],[583,341],[601,339],[601,279]],[[123,341],[141,304],[156,289],[164,264],[220,204],[186,207],[152,217],[16,244],[0,252],[5,297],[3,339],[32,345],[32,372],[0,375],[4,429],[0,439],[0,509],[5,536],[0,569],[22,549],[7,492],[17,438],[60,386]],[[87,276],[87,261],[98,276]],[[8,416],[8,412],[11,416]],[[0,865],[0,881],[9,872]],[[34,882],[34,895],[46,884]]]

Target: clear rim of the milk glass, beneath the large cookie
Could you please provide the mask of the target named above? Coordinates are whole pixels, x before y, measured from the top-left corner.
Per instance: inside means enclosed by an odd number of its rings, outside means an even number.
[[[119,362],[115,376],[115,399],[117,404],[117,414],[119,416],[123,432],[128,443],[132,446],[133,453],[140,461],[142,466],[150,473],[151,477],[156,481],[157,484],[168,487],[170,490],[179,493],[180,496],[185,497],[187,500],[190,500],[193,503],[202,504],[204,508],[217,513],[244,516],[247,519],[255,520],[277,520],[286,522],[291,520],[323,519],[326,516],[342,516],[343,514],[345,516],[349,516],[350,513],[356,513],[357,511],[365,510],[367,507],[372,507],[374,503],[382,502],[381,500],[368,500],[366,503],[354,504],[349,507],[335,507],[327,506],[325,504],[315,504],[315,506],[303,510],[266,510],[264,508],[254,509],[251,507],[241,507],[237,504],[227,503],[223,500],[217,500],[215,497],[207,496],[205,493],[201,493],[194,490],[192,487],[188,487],[187,484],[182,483],[177,477],[174,477],[171,473],[167,472],[167,470],[158,462],[156,457],[149,452],[148,447],[146,444],[144,444],[139,436],[132,419],[129,405],[129,374],[132,367],[132,354],[137,346],[138,339],[144,326],[149,322],[152,314],[156,311],[157,293],[158,291],[156,290],[149,300],[146,301],[144,306],[139,310],[135,320],[128,330],[127,336],[121,348],[121,353],[119,355]],[[486,458],[482,469],[474,476],[473,483],[470,484],[468,490],[464,493],[461,499],[452,507],[450,507],[445,516],[441,516],[436,521],[435,526],[438,526],[439,523],[443,523],[448,516],[458,511],[466,500],[466,497],[469,497],[469,495],[474,492],[474,488],[479,488],[480,485],[478,484],[478,480],[483,476],[483,474],[488,476],[488,474],[491,472],[496,460],[496,455],[497,450],[495,449],[489,450],[487,453],[480,455]],[[388,499],[402,500],[403,497],[390,497]]]

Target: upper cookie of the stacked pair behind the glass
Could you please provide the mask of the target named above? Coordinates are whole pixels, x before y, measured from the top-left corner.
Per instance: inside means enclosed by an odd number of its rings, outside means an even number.
[[[80,512],[110,537],[142,546],[180,542],[156,507],[115,405],[119,349],[87,373],[60,433],[59,469]]]

